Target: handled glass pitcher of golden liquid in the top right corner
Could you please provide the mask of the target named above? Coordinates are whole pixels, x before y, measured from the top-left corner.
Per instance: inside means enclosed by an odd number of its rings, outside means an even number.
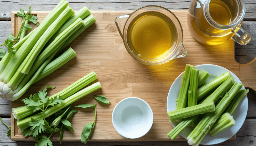
[[[244,0],[193,0],[188,10],[188,28],[204,44],[217,45],[231,38],[246,45],[251,36],[240,27],[244,14]]]

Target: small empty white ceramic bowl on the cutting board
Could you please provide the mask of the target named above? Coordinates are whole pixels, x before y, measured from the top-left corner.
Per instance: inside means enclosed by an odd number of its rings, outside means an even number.
[[[113,110],[112,123],[126,138],[139,138],[148,133],[153,124],[153,111],[148,103],[137,97],[121,100]]]

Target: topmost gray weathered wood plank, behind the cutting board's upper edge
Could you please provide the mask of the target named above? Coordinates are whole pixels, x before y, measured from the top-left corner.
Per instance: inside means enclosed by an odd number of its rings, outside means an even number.
[[[33,11],[48,11],[52,10],[60,0],[1,0],[0,4],[0,20],[11,20],[11,11],[18,11],[20,8],[27,10],[28,6],[31,6]],[[159,5],[169,10],[188,10],[192,0],[69,0],[69,5],[74,10],[79,10],[86,5],[90,10],[136,10],[145,5]],[[256,3],[254,0],[245,0],[246,12],[245,20],[256,20]]]

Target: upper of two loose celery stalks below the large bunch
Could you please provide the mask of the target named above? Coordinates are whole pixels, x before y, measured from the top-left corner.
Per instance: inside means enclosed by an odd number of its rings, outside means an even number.
[[[74,93],[76,93],[78,90],[84,88],[86,85],[88,85],[89,83],[91,83],[92,81],[94,81],[96,79],[98,79],[96,73],[91,72],[91,73],[85,75],[83,78],[77,80],[73,84],[69,85],[67,88],[50,96],[49,98],[52,98],[54,96],[62,96],[65,99],[68,96],[71,96]],[[43,107],[43,104],[40,104],[40,107]],[[35,113],[33,110],[34,110],[33,108],[27,107],[25,105],[25,106],[21,106],[18,108],[13,108],[12,114],[15,119],[20,120],[22,118],[29,116],[30,114]]]

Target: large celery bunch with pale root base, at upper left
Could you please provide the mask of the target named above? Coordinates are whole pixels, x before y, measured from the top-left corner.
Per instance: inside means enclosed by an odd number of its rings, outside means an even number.
[[[86,7],[75,13],[61,0],[36,29],[13,46],[17,52],[11,58],[6,53],[0,61],[0,97],[18,99],[36,81],[74,58],[71,48],[57,55],[96,21],[90,13]]]

